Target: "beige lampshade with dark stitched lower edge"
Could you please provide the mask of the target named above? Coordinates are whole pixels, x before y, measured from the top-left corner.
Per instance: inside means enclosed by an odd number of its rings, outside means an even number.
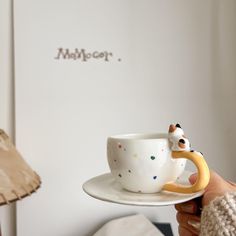
[[[40,177],[0,129],[0,205],[31,195],[40,184]]]

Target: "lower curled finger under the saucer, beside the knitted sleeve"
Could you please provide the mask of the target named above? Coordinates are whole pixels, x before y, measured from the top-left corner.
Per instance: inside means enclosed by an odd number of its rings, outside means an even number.
[[[178,212],[176,219],[180,227],[188,229],[193,234],[198,234],[200,230],[200,217],[191,214]]]

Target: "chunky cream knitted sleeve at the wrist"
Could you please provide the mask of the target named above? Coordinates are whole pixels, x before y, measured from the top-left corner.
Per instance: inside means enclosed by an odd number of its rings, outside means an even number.
[[[236,235],[236,192],[217,197],[203,208],[200,235]]]

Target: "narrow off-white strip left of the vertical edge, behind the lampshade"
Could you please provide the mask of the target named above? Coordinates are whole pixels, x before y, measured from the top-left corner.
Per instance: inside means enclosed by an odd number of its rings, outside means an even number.
[[[12,2],[0,0],[0,128],[14,142]],[[15,204],[0,208],[2,235],[16,235]]]

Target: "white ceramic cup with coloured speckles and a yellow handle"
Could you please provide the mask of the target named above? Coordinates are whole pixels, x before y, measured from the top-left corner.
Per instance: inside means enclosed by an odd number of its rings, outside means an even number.
[[[209,169],[197,152],[172,151],[167,134],[124,134],[107,140],[107,157],[112,175],[132,192],[156,193],[168,190],[193,193],[206,187]],[[183,173],[186,159],[198,169],[198,179],[190,187],[174,182]]]

